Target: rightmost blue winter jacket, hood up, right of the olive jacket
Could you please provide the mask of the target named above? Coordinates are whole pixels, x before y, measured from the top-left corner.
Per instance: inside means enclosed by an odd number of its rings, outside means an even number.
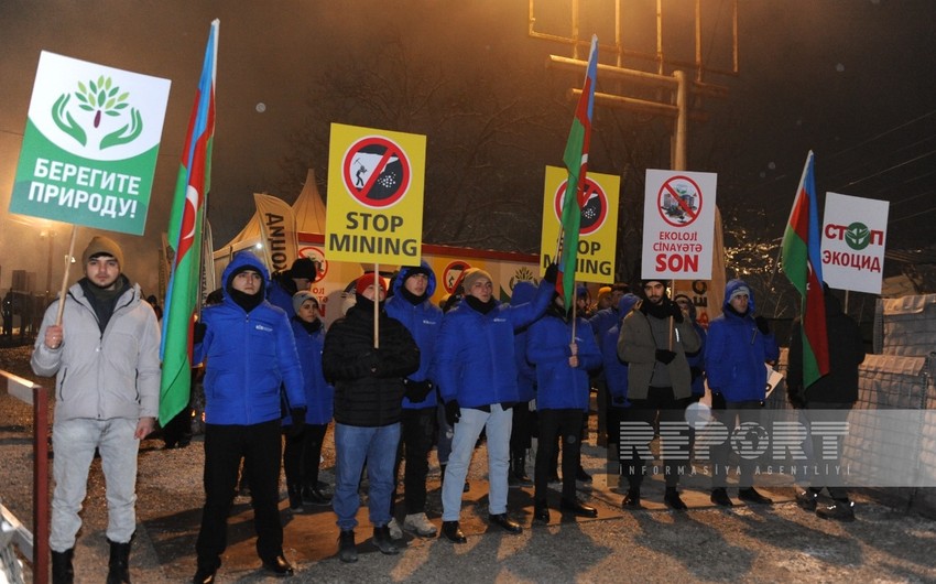
[[[743,280],[725,286],[722,313],[708,325],[705,372],[708,387],[726,401],[762,400],[766,393],[766,361],[777,359],[780,350],[773,334],[764,335],[754,323],[754,293],[748,295],[748,312],[739,315],[730,309],[731,293]]]

